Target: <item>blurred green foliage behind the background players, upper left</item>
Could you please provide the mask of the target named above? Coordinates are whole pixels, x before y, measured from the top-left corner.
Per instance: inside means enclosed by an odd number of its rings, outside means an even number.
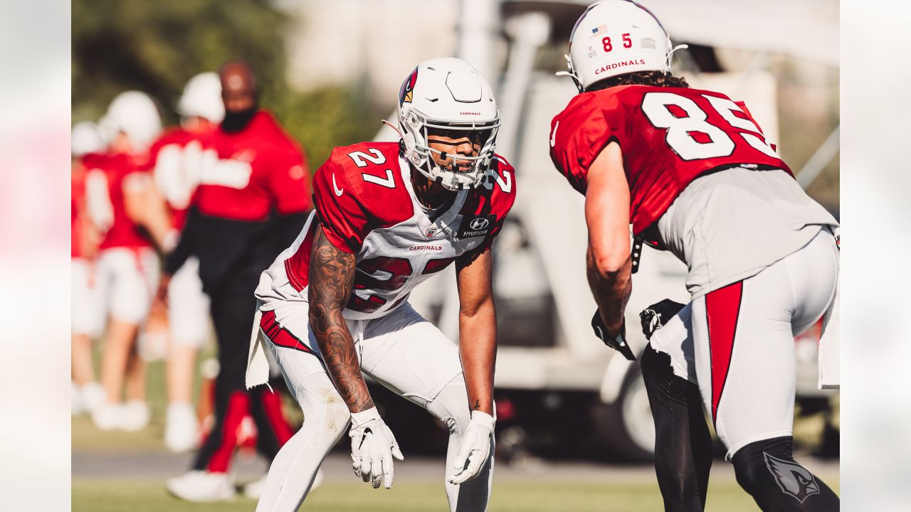
[[[175,124],[187,80],[233,58],[256,69],[262,106],[302,143],[312,169],[333,147],[372,138],[385,113],[360,84],[288,87],[292,20],[268,0],[74,0],[72,20],[73,122],[97,120],[118,93],[138,89],[159,100],[166,125]]]

